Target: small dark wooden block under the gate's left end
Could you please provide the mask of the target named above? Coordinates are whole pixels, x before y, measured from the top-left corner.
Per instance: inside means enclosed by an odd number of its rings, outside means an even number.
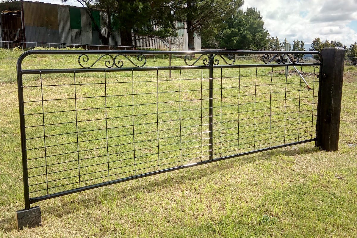
[[[24,229],[24,227],[35,228],[39,226],[42,226],[41,209],[39,206],[16,211],[17,231]]]

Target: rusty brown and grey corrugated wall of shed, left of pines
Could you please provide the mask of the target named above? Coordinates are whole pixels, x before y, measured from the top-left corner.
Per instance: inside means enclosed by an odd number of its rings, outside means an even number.
[[[102,45],[99,33],[92,30],[89,15],[83,8],[60,6],[40,2],[24,1],[24,22],[27,42],[43,42],[46,44],[28,44],[34,46],[69,46],[69,45]],[[80,10],[81,29],[72,29],[70,22],[70,9]],[[102,32],[109,28],[106,12],[100,11],[100,24]],[[48,44],[54,43],[54,44]],[[61,45],[59,45],[61,44]],[[112,32],[111,45],[120,45],[119,30]]]

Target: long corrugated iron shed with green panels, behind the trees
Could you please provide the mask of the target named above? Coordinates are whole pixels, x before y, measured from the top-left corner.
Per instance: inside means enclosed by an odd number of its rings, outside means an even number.
[[[99,38],[99,32],[95,30],[93,22],[84,8],[29,1],[17,1],[15,5],[17,8],[21,6],[21,9],[11,10],[21,10],[22,22],[21,26],[17,27],[24,29],[26,42],[32,42],[27,43],[27,47],[66,47],[70,45],[102,45],[103,43]],[[109,30],[108,17],[112,16],[108,16],[107,12],[102,10],[91,11],[91,13],[97,24],[100,25],[102,34],[106,35]],[[180,24],[182,25],[182,23],[178,23],[178,25]],[[0,41],[4,40],[3,26],[4,19],[0,20],[0,30],[2,31]],[[155,25],[154,27],[157,28]],[[12,31],[10,33],[14,34]],[[172,42],[171,49],[188,49],[187,29],[184,26],[178,30],[177,37],[170,37],[170,39]],[[25,38],[22,40],[25,41]],[[155,38],[135,39],[133,43],[136,47],[169,49],[167,42]],[[111,46],[120,45],[119,29],[112,29],[109,44]],[[195,37],[195,48],[201,49],[201,39],[198,36]]]

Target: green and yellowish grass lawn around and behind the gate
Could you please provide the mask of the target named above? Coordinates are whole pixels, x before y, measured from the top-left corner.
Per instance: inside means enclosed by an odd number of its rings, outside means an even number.
[[[345,68],[340,145],[337,152],[319,151],[314,147],[314,143],[310,142],[49,199],[35,204],[41,207],[43,227],[24,229],[17,232],[15,230],[15,211],[24,207],[15,71],[16,59],[20,54],[20,51],[0,51],[0,112],[2,118],[0,122],[0,191],[2,191],[0,194],[0,237],[357,236],[357,215],[355,212],[357,208],[357,158],[355,157],[357,150],[357,70],[353,66]],[[65,59],[65,64],[70,65],[70,60]],[[36,65],[50,67],[54,65],[54,62],[57,63],[57,61],[46,57],[34,57],[34,59],[25,62],[25,64],[27,64],[28,68],[38,67]],[[151,64],[151,62],[154,61],[148,59],[148,64]],[[155,59],[156,64],[163,65],[165,62],[167,60]],[[173,60],[174,65],[181,63],[182,59]],[[62,64],[60,67],[66,66]],[[314,106],[310,100],[303,102],[302,99],[295,100],[294,98],[298,96],[308,98],[309,95],[312,98],[316,97],[317,90],[304,90],[305,85],[301,83],[300,77],[296,75],[286,78],[280,73],[273,72],[272,77],[270,76],[272,75],[271,70],[271,68],[258,69],[257,71],[256,69],[243,69],[240,72],[243,79],[241,79],[243,84],[240,85],[240,90],[235,87],[239,82],[236,77],[237,70],[222,70],[222,72],[215,70],[217,79],[214,85],[216,89],[213,97],[216,100],[214,100],[213,114],[224,114],[223,118],[214,119],[216,124],[213,126],[215,131],[213,142],[217,145],[217,148],[223,148],[222,150],[217,149],[214,151],[215,157],[231,155],[233,150],[244,152],[263,148],[266,147],[267,143],[278,145],[282,143],[282,138],[284,142],[292,142],[313,137],[311,131],[313,131],[314,125],[311,122],[313,117],[311,112],[313,112]],[[314,71],[314,69],[303,69],[305,72],[309,72],[308,70]],[[261,76],[256,78],[256,73]],[[81,125],[82,130],[93,127],[101,128],[101,124],[105,123],[105,120],[100,120],[100,115],[103,113],[105,115],[105,112],[98,112],[96,111],[97,109],[94,109],[102,107],[103,103],[112,103],[115,108],[124,108],[122,111],[112,110],[110,112],[113,115],[112,117],[126,115],[127,118],[132,118],[130,113],[133,113],[133,111],[134,115],[138,115],[140,112],[147,113],[154,110],[153,118],[150,116],[137,116],[135,119],[135,131],[137,133],[135,140],[155,138],[154,135],[147,135],[150,125],[159,128],[162,133],[164,133],[164,130],[170,129],[167,130],[167,133],[165,132],[166,136],[165,133],[164,135],[159,135],[160,138],[171,136],[166,141],[159,140],[159,142],[147,142],[142,145],[142,171],[155,171],[157,169],[157,158],[151,154],[157,153],[156,149],[154,149],[157,143],[159,143],[158,150],[171,152],[168,153],[171,156],[167,155],[166,158],[168,167],[182,163],[181,159],[178,159],[180,156],[175,155],[173,152],[177,150],[177,143],[175,143],[177,135],[175,133],[178,133],[173,128],[176,128],[177,119],[180,117],[175,112],[177,111],[176,109],[178,107],[186,108],[187,113],[181,115],[181,127],[187,127],[185,129],[187,134],[193,135],[197,132],[194,135],[198,136],[191,135],[191,137],[188,136],[184,139],[191,143],[189,144],[190,146],[187,146],[189,148],[185,152],[187,161],[183,162],[200,161],[202,156],[207,156],[205,154],[207,153],[205,152],[207,148],[202,146],[207,144],[203,139],[205,137],[202,136],[202,133],[207,128],[204,128],[205,126],[201,127],[201,120],[208,120],[208,117],[202,117],[201,113],[203,116],[207,115],[208,100],[206,99],[208,92],[203,90],[201,94],[201,85],[203,89],[208,87],[208,71],[172,71],[171,81],[165,80],[167,75],[168,71],[140,72],[140,74],[136,75],[128,72],[108,73],[106,82],[111,82],[111,85],[115,86],[112,88],[103,88],[103,74],[89,75],[83,73],[77,75],[76,80],[85,82],[76,89],[76,92],[82,97],[89,94],[92,96],[101,95],[103,90],[107,90],[106,93],[112,93],[113,96],[123,95],[121,96],[122,100],[116,98],[117,100],[112,102],[101,102],[100,100],[83,100],[80,102],[82,105],[79,104],[77,106],[82,106],[83,109],[91,108],[90,110],[83,110],[81,115],[77,115],[82,118],[77,118],[78,120],[84,121],[85,118],[99,115],[99,120],[95,124],[86,125],[84,123],[84,125]],[[182,85],[178,85],[180,77]],[[118,79],[120,79],[119,82],[117,81]],[[135,80],[134,86],[131,83],[132,79]],[[160,79],[160,81],[157,82],[156,79]],[[53,85],[54,82],[57,85],[62,85],[63,83],[71,82],[71,80],[73,80],[73,77],[67,75],[45,75],[42,77],[44,85]],[[312,78],[308,78],[308,80],[310,80],[310,86],[317,88],[317,82],[313,82]],[[27,86],[36,86],[40,80],[38,75],[26,76],[24,82],[27,83]],[[94,84],[89,85],[89,82]],[[267,82],[269,86],[266,85]],[[275,87],[270,87],[271,82]],[[156,94],[157,85],[159,85],[161,92],[166,93]],[[130,100],[136,102],[136,106],[134,108],[126,108],[125,102],[128,101],[126,97],[129,95],[127,91],[133,90],[133,87],[137,95],[145,92],[149,92],[149,94],[145,98],[141,96],[137,96],[134,99],[131,98]],[[223,90],[220,89],[222,87]],[[53,99],[54,97],[69,98],[73,94],[73,88],[68,86],[48,86],[45,88],[47,90],[44,92],[46,99]],[[288,93],[288,95],[281,93],[282,90],[285,92],[285,88],[290,88],[292,92]],[[28,100],[36,100],[36,95],[38,95],[36,90],[36,87],[28,88],[28,91],[26,91]],[[177,93],[179,90],[181,90],[181,93]],[[273,100],[276,99],[276,101],[270,102],[269,100],[269,102],[266,102],[266,97],[271,95],[271,92],[273,92]],[[234,95],[238,93],[241,95],[240,100],[242,100],[239,105],[246,106],[235,108],[237,106],[237,98]],[[299,95],[296,95],[296,93],[299,93]],[[255,95],[261,96],[255,97]],[[223,96],[222,100],[221,96]],[[177,101],[178,97],[182,97],[185,101],[177,105],[175,101]],[[304,115],[296,113],[295,110],[286,111],[284,109],[286,105],[281,105],[281,103],[285,104],[285,100],[283,100],[285,98],[291,98],[289,100],[292,103],[291,108],[296,109],[297,105],[299,105],[299,111],[303,111],[303,107],[306,107],[306,111],[310,110],[310,114],[306,115],[306,118],[309,119],[306,119],[307,121],[302,119],[296,121],[296,117]],[[156,108],[156,102],[162,102],[162,108],[159,106]],[[60,111],[61,108],[69,111],[74,106],[71,103],[73,102],[47,106],[56,111]],[[151,108],[148,103],[154,103],[155,108]],[[271,115],[271,112],[269,114],[266,111],[268,107],[274,108],[273,114],[276,115],[274,120],[267,120],[269,118],[268,115]],[[42,111],[42,107],[38,105],[30,105],[27,108],[31,113],[39,112],[39,108]],[[203,109],[197,110],[197,108]],[[221,108],[223,108],[224,113],[222,113]],[[235,126],[236,115],[234,112],[237,110],[241,112],[240,120],[242,120],[239,128]],[[70,122],[75,115],[70,112],[66,113],[62,117],[56,116],[55,113],[48,113],[46,122],[49,124],[51,124],[50,122],[52,124]],[[261,115],[258,113],[261,113]],[[162,117],[159,118],[157,115]],[[43,119],[42,114],[40,116],[40,118],[36,115],[29,116],[27,121],[32,124],[26,124],[26,126],[38,125],[36,123],[41,122],[39,120]],[[244,118],[258,116],[260,119],[256,119],[254,123],[243,124]],[[58,121],[63,120],[63,118],[67,121]],[[185,118],[190,120],[185,120]],[[288,118],[291,119],[288,125],[281,123],[281,121],[284,122],[284,119]],[[114,120],[113,123],[117,123],[116,121]],[[170,122],[158,123],[158,121]],[[224,121],[224,123],[218,123],[220,121]],[[275,140],[272,140],[269,136],[266,137],[264,132],[267,130],[267,124],[272,123],[271,121],[273,121],[273,126],[276,128]],[[65,124],[67,125],[65,128],[51,128],[51,126],[48,126],[46,131],[49,134],[61,133],[71,129],[69,124]],[[297,127],[296,124],[298,124]],[[255,125],[262,126],[261,134],[252,132],[252,130],[257,129]],[[125,128],[126,125],[115,126],[123,126]],[[281,131],[284,130],[290,134],[281,134]],[[237,136],[237,132],[240,133],[238,138],[241,140],[238,148],[232,142],[232,138]],[[39,132],[31,132],[29,130],[28,133],[29,135],[27,136],[30,136],[31,133],[36,135]],[[124,132],[116,131],[116,133]],[[84,133],[83,135],[87,140],[88,138],[96,139],[101,136],[100,130],[95,133]],[[53,141],[46,142],[53,143],[53,151],[49,153],[55,155],[58,151],[64,150],[56,146],[56,142],[68,140],[70,140],[70,136],[53,138]],[[129,140],[129,138],[123,136],[120,139],[113,139],[109,143],[118,145],[119,143],[123,144],[125,140]],[[254,143],[254,140],[259,142]],[[41,145],[41,143],[43,142],[34,140],[32,145],[29,143],[28,146],[35,147]],[[99,140],[95,145],[92,142],[83,142],[82,148],[100,147],[101,143],[105,143],[105,141]],[[128,141],[128,146],[129,144],[130,141]],[[46,145],[48,146],[49,144]],[[113,146],[113,150],[113,153],[118,153],[115,150],[122,151],[122,148]],[[92,155],[90,155],[91,153]],[[36,158],[40,154],[40,151],[35,151],[30,156]],[[192,154],[192,156],[189,154]],[[198,157],[197,154],[199,155]],[[86,153],[82,159],[83,164],[81,164],[81,167],[87,166],[87,173],[97,171],[98,164],[101,163],[99,159],[96,160],[96,164],[91,164],[93,162],[88,158],[100,155],[101,152],[98,150]],[[128,158],[132,157],[132,155],[127,156]],[[165,157],[161,159],[163,158]],[[118,159],[115,158],[108,159],[111,159],[113,166],[118,162]],[[36,162],[36,159],[34,159],[33,166],[36,163],[41,166],[42,162]],[[70,168],[70,165],[67,163],[57,164],[53,169],[63,169],[64,167]],[[117,178],[118,174],[121,174],[120,176],[130,176],[132,171],[127,168],[113,169],[113,174],[110,175],[112,176],[111,179]],[[34,174],[38,174],[40,169],[34,169]],[[55,174],[52,178],[53,184],[51,186],[54,187],[52,192],[58,191],[56,189],[59,188],[55,188],[55,186],[61,185],[61,182],[56,181],[56,179],[60,179],[61,176],[61,174]],[[68,172],[65,176],[76,176],[76,174]],[[102,176],[100,174],[96,176],[94,177],[96,178],[95,180],[89,181],[90,184],[101,182],[102,178],[100,177]],[[32,184],[40,182],[41,178],[35,177]],[[38,189],[41,188],[40,186],[37,186],[37,190],[40,190]],[[36,190],[35,187],[33,191]],[[43,195],[42,192],[38,192],[37,195]]]

